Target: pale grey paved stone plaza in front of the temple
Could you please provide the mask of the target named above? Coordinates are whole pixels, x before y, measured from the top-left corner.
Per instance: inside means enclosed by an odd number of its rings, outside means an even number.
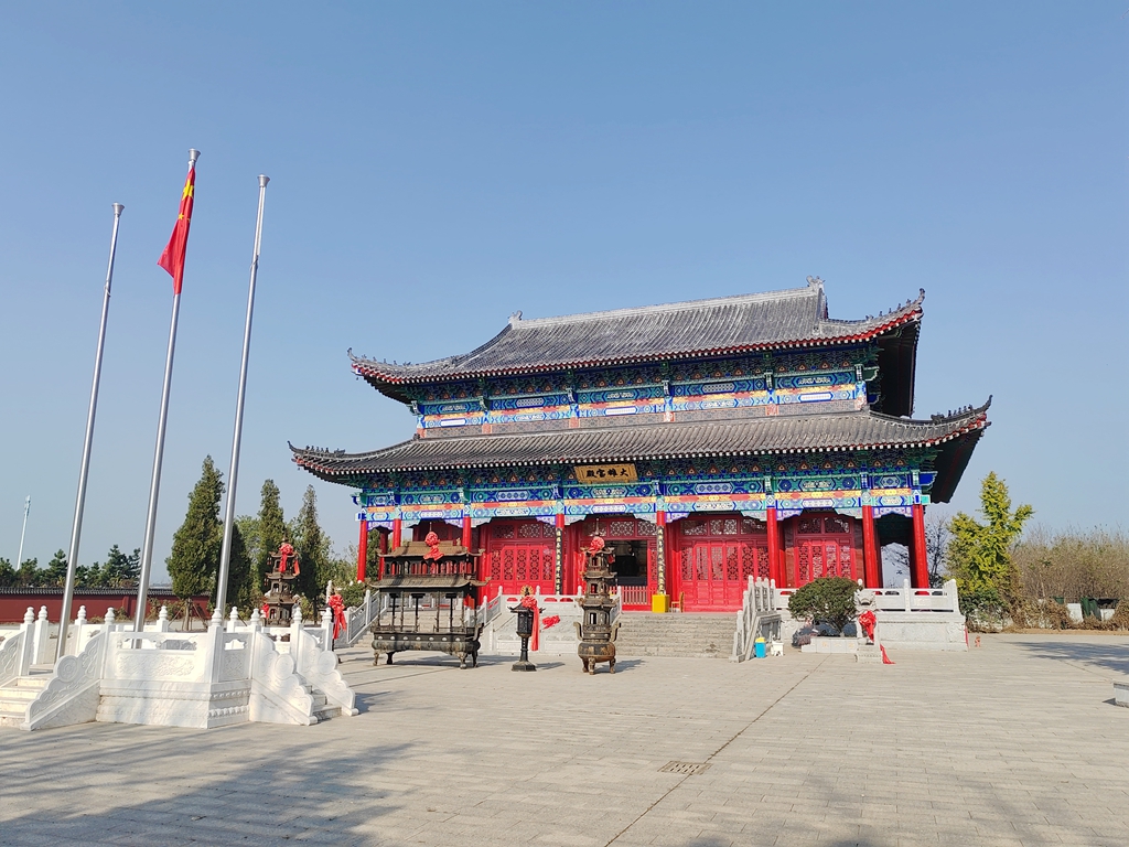
[[[984,636],[614,676],[344,654],[312,727],[0,733],[0,844],[1129,844],[1129,639]],[[663,772],[671,761],[702,774]]]

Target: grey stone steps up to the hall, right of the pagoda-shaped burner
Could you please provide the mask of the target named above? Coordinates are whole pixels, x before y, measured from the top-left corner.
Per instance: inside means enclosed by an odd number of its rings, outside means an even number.
[[[733,653],[733,636],[737,631],[735,615],[650,612],[622,612],[616,620],[615,655],[688,656],[693,658],[728,658]]]

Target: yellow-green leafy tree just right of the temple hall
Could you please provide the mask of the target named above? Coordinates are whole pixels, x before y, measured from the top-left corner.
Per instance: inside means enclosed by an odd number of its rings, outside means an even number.
[[[952,538],[945,561],[966,610],[981,608],[1003,614],[1019,599],[1019,574],[1012,561],[1012,549],[1034,509],[1013,509],[1007,483],[994,471],[980,487],[980,513],[984,523],[963,512],[949,521]]]

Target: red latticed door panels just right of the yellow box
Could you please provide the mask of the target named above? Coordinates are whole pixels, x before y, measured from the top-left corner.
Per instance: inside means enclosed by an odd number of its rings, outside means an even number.
[[[768,532],[760,521],[741,515],[686,517],[675,527],[684,611],[734,611],[741,608],[750,576],[768,578]]]

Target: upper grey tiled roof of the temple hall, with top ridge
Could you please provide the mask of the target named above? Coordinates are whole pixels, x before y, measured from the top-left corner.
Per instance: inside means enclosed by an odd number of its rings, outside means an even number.
[[[822,280],[808,278],[804,288],[767,294],[530,321],[517,313],[498,335],[469,353],[414,365],[352,357],[353,369],[374,384],[396,384],[846,343],[919,320],[924,297],[922,290],[917,300],[878,317],[833,321]]]

